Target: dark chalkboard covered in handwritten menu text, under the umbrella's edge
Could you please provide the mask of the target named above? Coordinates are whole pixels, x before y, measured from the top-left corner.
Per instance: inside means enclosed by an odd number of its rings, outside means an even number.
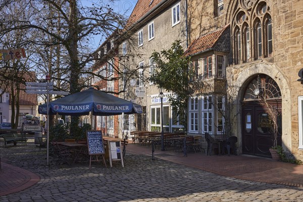
[[[89,155],[105,154],[102,133],[100,130],[88,130],[86,131],[86,136]]]

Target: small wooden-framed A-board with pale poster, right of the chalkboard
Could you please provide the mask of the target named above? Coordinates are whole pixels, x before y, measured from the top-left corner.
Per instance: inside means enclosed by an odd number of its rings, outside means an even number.
[[[111,168],[113,167],[112,161],[121,161],[122,168],[124,168],[123,153],[120,140],[108,140],[108,153]]]

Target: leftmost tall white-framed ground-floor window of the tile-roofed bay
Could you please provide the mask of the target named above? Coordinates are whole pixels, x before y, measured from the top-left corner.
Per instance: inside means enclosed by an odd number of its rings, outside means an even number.
[[[189,132],[198,132],[198,98],[189,99]]]

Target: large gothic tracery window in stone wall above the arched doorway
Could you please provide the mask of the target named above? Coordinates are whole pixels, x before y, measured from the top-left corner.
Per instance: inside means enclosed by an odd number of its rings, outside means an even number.
[[[234,63],[271,57],[273,53],[271,9],[264,1],[240,5],[240,9],[232,15],[231,23]]]

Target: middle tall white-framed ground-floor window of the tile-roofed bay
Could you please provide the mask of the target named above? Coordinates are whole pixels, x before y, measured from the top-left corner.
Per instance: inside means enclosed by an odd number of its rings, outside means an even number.
[[[212,95],[202,97],[202,129],[203,133],[213,133],[213,97]]]

